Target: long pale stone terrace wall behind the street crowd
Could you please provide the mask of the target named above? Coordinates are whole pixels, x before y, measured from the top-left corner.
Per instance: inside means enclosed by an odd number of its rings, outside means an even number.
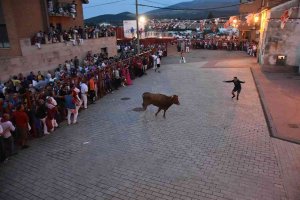
[[[101,48],[107,48],[109,56],[117,54],[116,37],[84,40],[82,45],[76,46],[71,43],[45,44],[41,49],[32,46],[30,39],[23,39],[20,44],[23,56],[0,57],[0,80],[7,80],[20,72],[53,70],[75,56],[84,58],[88,51],[99,53]]]

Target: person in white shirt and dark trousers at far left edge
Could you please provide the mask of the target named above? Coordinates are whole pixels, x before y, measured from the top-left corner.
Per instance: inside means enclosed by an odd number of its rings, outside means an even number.
[[[5,158],[14,154],[14,139],[11,131],[15,131],[14,125],[9,121],[9,114],[3,114],[3,118],[0,118],[0,127],[2,127],[3,132],[0,135],[4,140]]]

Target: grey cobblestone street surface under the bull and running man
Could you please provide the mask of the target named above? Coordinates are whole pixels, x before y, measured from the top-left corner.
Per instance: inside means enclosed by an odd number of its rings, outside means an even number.
[[[251,71],[162,65],[0,166],[0,199],[287,199]],[[234,75],[245,80],[232,100]],[[155,117],[145,91],[178,94]],[[120,100],[130,97],[127,101]]]

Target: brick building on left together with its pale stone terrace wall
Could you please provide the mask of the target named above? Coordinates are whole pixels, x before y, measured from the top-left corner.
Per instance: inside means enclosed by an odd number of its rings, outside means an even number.
[[[83,3],[88,0],[0,0],[0,80],[20,72],[52,70],[75,56],[85,57],[88,51],[115,56],[115,36],[85,36],[76,45],[63,39],[55,42],[45,39],[48,42],[41,48],[32,45],[32,38],[39,31],[48,37],[47,33],[53,29],[83,27]]]

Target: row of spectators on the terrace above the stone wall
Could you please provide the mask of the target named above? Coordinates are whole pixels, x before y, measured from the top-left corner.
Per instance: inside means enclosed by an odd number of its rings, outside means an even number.
[[[115,35],[115,30],[110,26],[75,26],[69,30],[62,30],[53,25],[48,32],[39,31],[31,38],[31,44],[41,48],[41,44],[71,42],[73,45],[80,45],[84,39],[99,37],[110,37]]]

